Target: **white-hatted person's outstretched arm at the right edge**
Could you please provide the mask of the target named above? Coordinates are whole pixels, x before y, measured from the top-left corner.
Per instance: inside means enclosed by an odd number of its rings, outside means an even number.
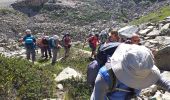
[[[164,90],[170,92],[170,80],[166,80],[164,79],[163,77],[161,77],[157,83],[156,83],[157,86],[160,86],[162,87]]]

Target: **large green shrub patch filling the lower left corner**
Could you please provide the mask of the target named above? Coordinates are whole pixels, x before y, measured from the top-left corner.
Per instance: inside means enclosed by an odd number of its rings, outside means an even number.
[[[51,71],[21,58],[0,55],[0,97],[6,99],[43,99],[55,89]]]

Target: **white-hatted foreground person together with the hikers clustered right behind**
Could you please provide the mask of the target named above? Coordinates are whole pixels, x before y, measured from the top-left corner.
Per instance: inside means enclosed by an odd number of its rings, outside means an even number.
[[[142,100],[141,90],[153,84],[170,92],[170,80],[160,75],[153,51],[141,45],[137,33],[122,38],[112,30],[90,34],[86,41],[94,43],[89,43],[94,59],[87,67],[87,82],[93,89],[90,100]]]

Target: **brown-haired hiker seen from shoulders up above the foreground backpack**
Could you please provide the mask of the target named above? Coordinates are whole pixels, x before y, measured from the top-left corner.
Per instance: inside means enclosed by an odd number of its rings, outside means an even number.
[[[108,37],[106,43],[109,43],[109,42],[118,42],[119,39],[120,39],[120,37],[118,35],[118,32],[116,30],[112,30],[109,33],[109,37]]]

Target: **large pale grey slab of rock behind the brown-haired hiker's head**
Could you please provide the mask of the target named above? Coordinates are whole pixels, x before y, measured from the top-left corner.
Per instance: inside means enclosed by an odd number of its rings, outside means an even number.
[[[139,28],[137,26],[126,26],[118,30],[118,33],[122,38],[131,38],[138,30]]]

